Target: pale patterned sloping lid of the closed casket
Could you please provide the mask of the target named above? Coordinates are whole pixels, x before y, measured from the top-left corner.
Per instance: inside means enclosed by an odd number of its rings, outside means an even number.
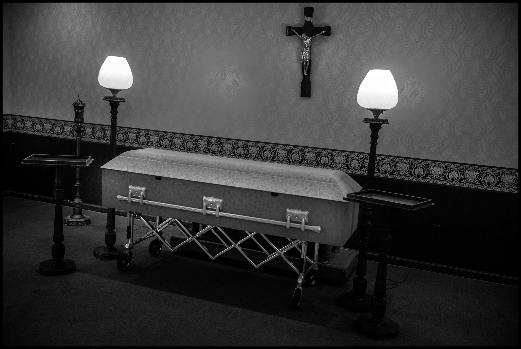
[[[155,148],[122,153],[101,168],[335,201],[362,188],[339,170]]]

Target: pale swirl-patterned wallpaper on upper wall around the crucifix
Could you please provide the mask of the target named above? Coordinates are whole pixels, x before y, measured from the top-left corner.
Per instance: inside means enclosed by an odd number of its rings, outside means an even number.
[[[3,5],[3,114],[72,120],[80,94],[85,122],[108,124],[97,73],[115,55],[134,76],[120,126],[367,153],[356,92],[389,69],[379,154],[518,168],[517,3],[311,3],[332,28],[313,39],[311,98],[284,30],[304,6],[11,3],[6,38]]]

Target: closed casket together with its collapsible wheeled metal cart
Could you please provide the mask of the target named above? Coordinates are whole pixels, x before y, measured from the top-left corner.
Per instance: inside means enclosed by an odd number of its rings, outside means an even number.
[[[103,206],[128,211],[128,243],[118,259],[120,270],[128,268],[133,245],[148,238],[155,238],[148,246],[152,254],[163,246],[173,252],[194,242],[210,259],[235,248],[254,268],[280,256],[299,275],[293,293],[298,308],[304,280],[313,284],[317,277],[318,244],[343,246],[357,226],[358,204],[343,197],[361,187],[338,170],[154,148],[123,153],[102,168]],[[155,227],[143,215],[158,216]],[[138,240],[133,238],[134,217],[148,228]],[[159,217],[175,218],[160,222]],[[194,232],[183,222],[206,227]],[[176,246],[163,237],[169,225],[184,235]],[[221,227],[243,231],[244,238],[234,240]],[[224,250],[210,254],[201,240],[205,233],[215,235]],[[277,246],[267,234],[288,242]],[[246,241],[253,241],[266,259],[254,263],[241,246]],[[308,242],[315,243],[313,259],[307,256]],[[292,248],[300,253],[298,267],[286,256]]]

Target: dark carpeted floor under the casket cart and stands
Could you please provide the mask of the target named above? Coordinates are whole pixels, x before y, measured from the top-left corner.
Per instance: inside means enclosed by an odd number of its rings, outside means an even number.
[[[386,296],[386,316],[400,333],[378,341],[359,334],[353,327],[359,314],[335,302],[352,289],[354,273],[344,284],[319,279],[306,287],[295,311],[294,273],[186,251],[151,256],[148,241],[120,272],[115,260],[93,257],[103,245],[106,215],[83,213],[91,225],[64,227],[65,257],[77,271],[42,276],[39,264],[51,258],[54,205],[3,199],[4,346],[518,345],[516,286],[412,270]],[[126,218],[116,216],[116,227],[117,245],[124,244]],[[376,266],[368,262],[369,292]],[[408,271],[389,266],[388,279],[401,281]]]

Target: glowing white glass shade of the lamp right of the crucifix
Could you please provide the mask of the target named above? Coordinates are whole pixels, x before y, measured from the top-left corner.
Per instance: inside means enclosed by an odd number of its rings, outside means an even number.
[[[371,69],[360,84],[356,102],[367,109],[391,109],[398,104],[398,88],[389,70]]]

